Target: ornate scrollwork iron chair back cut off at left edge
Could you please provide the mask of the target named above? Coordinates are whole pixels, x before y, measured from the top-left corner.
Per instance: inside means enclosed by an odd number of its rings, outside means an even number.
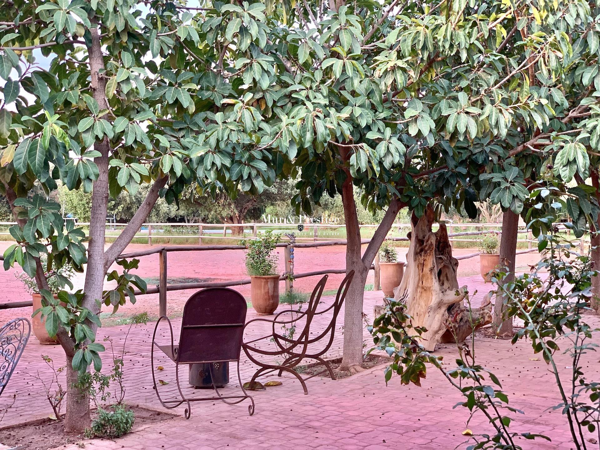
[[[0,395],[17,367],[30,334],[31,323],[25,317],[13,319],[0,328]]]

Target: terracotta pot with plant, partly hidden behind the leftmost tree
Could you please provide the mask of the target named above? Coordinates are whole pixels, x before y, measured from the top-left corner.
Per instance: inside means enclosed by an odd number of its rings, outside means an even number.
[[[47,256],[45,254],[40,255],[41,263],[44,267],[47,266]],[[61,292],[63,286],[67,284],[70,289],[73,289],[73,284],[71,284],[70,278],[73,276],[74,271],[73,267],[70,264],[66,264],[59,269],[52,270],[44,273],[46,276],[46,282],[48,283],[48,289],[52,292],[54,298],[58,298],[57,294]],[[25,272],[20,274],[14,274],[17,280],[23,283],[25,289],[29,294],[31,294],[31,299],[33,301],[33,311],[37,311],[42,307],[41,304],[41,295],[40,290],[38,289],[37,283],[34,278],[29,277]],[[37,314],[35,317],[31,319],[31,325],[34,331],[34,335],[40,344],[42,345],[56,345],[58,344],[58,340],[56,338],[51,338],[46,331],[46,325],[44,320],[41,319],[41,314]]]

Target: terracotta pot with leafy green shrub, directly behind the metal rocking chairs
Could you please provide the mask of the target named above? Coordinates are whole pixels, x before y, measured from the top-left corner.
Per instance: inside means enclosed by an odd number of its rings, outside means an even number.
[[[250,300],[259,316],[270,316],[279,305],[279,274],[277,273],[277,248],[279,237],[271,231],[256,239],[245,239],[247,247],[246,269],[250,275]]]

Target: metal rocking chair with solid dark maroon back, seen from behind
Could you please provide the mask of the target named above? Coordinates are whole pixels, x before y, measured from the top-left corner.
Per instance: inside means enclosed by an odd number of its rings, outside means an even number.
[[[209,287],[194,293],[185,303],[181,319],[179,343],[173,343],[173,326],[168,317],[161,316],[154,327],[152,335],[152,382],[160,403],[169,409],[187,403],[185,418],[191,415],[192,401],[223,400],[227,404],[237,404],[249,398],[250,415],[254,414],[254,399],[247,394],[239,374],[239,355],[242,347],[242,334],[246,320],[247,305],[244,297],[227,287]],[[156,341],[158,325],[166,320],[169,324],[171,342],[160,345]],[[175,379],[181,398],[163,400],[158,392],[157,380],[154,374],[154,347],[175,362]],[[206,364],[209,365],[211,377],[214,380],[214,365],[224,362],[238,364],[239,386],[244,395],[221,395],[217,386],[213,388],[217,397],[186,397],[179,382],[179,365]],[[235,401],[227,401],[234,399]]]

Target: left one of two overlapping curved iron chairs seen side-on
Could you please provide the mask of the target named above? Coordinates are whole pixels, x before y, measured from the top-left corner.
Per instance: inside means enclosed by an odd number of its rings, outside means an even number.
[[[314,287],[305,311],[290,309],[281,311],[281,313],[277,314],[274,319],[253,319],[246,324],[244,331],[248,329],[249,326],[253,324],[256,325],[256,323],[269,323],[271,324],[272,328],[271,334],[245,341],[242,344],[242,349],[244,349],[244,353],[246,353],[248,359],[259,366],[259,370],[254,373],[251,382],[254,382],[260,376],[265,376],[275,371],[279,372],[279,376],[281,376],[283,371],[286,371],[298,379],[302,385],[302,389],[304,389],[304,394],[308,394],[308,389],[305,383],[306,379],[303,379],[302,376],[294,370],[294,367],[296,367],[296,365],[302,361],[302,358],[308,352],[308,344],[312,341],[310,338],[310,326],[313,321],[317,306],[319,305],[319,300],[323,293],[323,289],[325,289],[327,278],[328,275],[325,275]],[[291,319],[282,319],[282,316],[286,314],[289,314]],[[284,335],[278,332],[277,327],[292,329],[294,332],[292,335],[287,333]],[[299,330],[299,328],[301,328],[301,330]],[[257,344],[261,341],[263,343],[272,341],[278,348],[277,350],[265,350],[259,348],[257,347]],[[260,359],[258,359],[259,356],[257,355],[270,356],[271,358],[281,356],[286,359],[284,364],[275,364],[274,362],[260,361]],[[291,358],[292,355],[297,356],[295,358]],[[298,358],[298,356],[301,357]]]

